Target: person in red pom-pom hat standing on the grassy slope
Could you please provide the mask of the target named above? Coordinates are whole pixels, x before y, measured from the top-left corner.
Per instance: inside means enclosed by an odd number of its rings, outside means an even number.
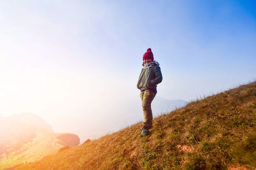
[[[151,103],[156,96],[157,84],[161,83],[163,76],[159,63],[154,60],[154,55],[151,48],[143,55],[143,68],[141,69],[140,77],[137,83],[137,88],[140,89],[140,97],[142,101],[142,110],[144,115],[144,122],[140,137],[147,136],[149,129],[152,126],[152,110]]]

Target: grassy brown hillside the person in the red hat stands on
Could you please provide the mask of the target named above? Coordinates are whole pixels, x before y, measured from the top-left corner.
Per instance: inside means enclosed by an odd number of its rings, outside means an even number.
[[[189,103],[17,169],[256,168],[256,82]]]

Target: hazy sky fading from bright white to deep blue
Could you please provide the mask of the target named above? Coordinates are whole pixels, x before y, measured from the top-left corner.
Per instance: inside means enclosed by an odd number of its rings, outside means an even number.
[[[6,0],[0,23],[0,115],[35,113],[57,132],[135,123],[115,110],[141,104],[149,47],[165,99],[256,80],[255,1]]]

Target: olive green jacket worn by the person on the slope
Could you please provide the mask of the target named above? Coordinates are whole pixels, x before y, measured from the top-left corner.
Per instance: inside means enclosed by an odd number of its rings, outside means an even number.
[[[161,83],[163,76],[159,66],[154,65],[148,69],[141,69],[137,88],[140,90],[156,90],[157,84]]]

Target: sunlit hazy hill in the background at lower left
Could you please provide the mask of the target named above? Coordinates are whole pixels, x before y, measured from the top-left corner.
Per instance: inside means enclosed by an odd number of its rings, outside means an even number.
[[[54,133],[42,118],[21,113],[0,120],[0,169],[42,159],[63,146],[77,146],[76,134]]]

